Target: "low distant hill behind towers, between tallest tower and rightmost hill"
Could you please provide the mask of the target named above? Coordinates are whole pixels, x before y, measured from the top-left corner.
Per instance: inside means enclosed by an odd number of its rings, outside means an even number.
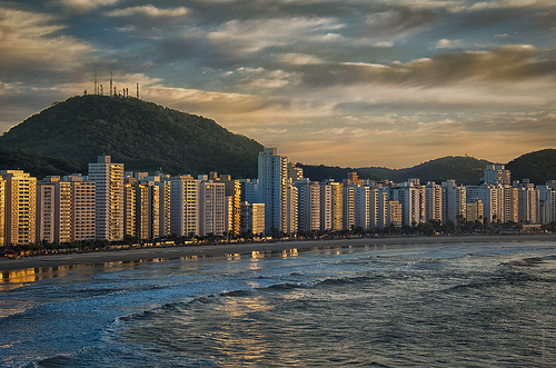
[[[326,166],[310,166],[299,163],[304,172],[311,180],[322,180],[334,178],[341,181],[347,178],[347,173],[357,171],[359,178],[371,180],[391,180],[395,182],[406,181],[410,178],[420,179],[421,183],[427,181],[441,182],[447,179],[455,179],[457,183],[477,185],[483,178],[485,166],[490,163],[487,160],[479,160],[473,157],[444,157],[406,169],[387,168],[338,168]]]

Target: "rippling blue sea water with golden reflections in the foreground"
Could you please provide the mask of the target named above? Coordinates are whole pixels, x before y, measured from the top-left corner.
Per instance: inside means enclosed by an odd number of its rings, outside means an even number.
[[[556,242],[332,246],[37,272],[0,284],[0,366],[556,366]]]

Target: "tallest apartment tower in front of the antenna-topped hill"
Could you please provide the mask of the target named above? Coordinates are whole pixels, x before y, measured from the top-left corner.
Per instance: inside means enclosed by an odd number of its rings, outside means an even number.
[[[99,156],[96,163],[89,163],[89,180],[95,182],[96,238],[123,239],[123,163]]]

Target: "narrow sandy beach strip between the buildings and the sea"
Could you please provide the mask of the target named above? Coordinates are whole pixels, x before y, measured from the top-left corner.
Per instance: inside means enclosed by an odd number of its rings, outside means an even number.
[[[446,236],[446,237],[387,237],[327,240],[294,240],[275,242],[249,242],[203,246],[152,247],[102,252],[64,253],[18,259],[0,259],[0,272],[53,268],[62,266],[95,266],[109,262],[160,261],[180,258],[226,257],[252,252],[308,250],[319,248],[348,248],[384,245],[457,243],[457,242],[516,242],[556,241],[556,235],[496,235],[496,236]]]

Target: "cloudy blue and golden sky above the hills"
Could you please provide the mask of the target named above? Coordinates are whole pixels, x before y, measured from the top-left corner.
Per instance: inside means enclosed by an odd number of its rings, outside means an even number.
[[[556,147],[554,0],[0,0],[0,131],[110,71],[292,162]]]

